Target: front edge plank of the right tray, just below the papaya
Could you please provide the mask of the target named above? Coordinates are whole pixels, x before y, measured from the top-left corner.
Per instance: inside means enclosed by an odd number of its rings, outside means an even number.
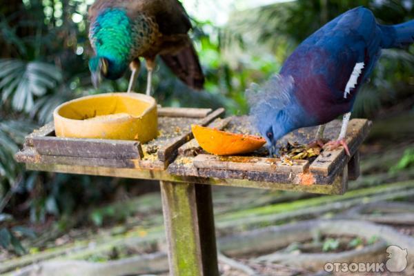
[[[307,160],[293,160],[293,166],[284,164],[279,158],[197,155],[193,164],[196,168],[217,170],[242,170],[251,172],[300,173],[308,166]]]

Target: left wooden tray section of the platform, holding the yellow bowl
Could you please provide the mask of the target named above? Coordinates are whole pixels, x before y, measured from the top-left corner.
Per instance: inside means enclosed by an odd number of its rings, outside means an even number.
[[[193,138],[191,124],[206,126],[222,114],[223,108],[159,108],[159,135],[146,144],[56,137],[50,123],[26,137],[17,160],[28,164],[164,170],[175,158],[177,148]]]

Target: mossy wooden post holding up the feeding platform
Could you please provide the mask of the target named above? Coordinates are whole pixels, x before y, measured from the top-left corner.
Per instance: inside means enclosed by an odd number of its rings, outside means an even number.
[[[170,275],[218,276],[211,186],[160,184]]]

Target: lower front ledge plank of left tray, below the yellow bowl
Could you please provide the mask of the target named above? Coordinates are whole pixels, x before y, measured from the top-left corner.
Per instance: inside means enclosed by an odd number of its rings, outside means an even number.
[[[137,160],[134,159],[106,159],[106,158],[83,158],[69,156],[39,155],[34,148],[25,148],[17,152],[15,159],[20,162],[64,164],[75,166],[93,166],[108,168],[136,168]]]

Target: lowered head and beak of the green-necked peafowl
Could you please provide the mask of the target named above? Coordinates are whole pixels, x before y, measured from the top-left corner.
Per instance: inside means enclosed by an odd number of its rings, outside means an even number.
[[[119,79],[124,75],[127,67],[124,61],[108,57],[92,57],[89,60],[89,70],[92,75],[93,86],[97,88],[103,77],[106,79]]]

